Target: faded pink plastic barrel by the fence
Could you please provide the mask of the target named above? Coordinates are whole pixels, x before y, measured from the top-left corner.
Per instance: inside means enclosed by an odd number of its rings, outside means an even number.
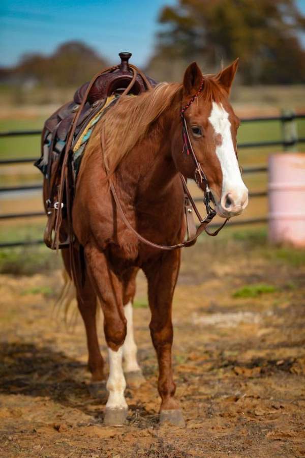
[[[305,247],[305,153],[269,156],[269,240]]]

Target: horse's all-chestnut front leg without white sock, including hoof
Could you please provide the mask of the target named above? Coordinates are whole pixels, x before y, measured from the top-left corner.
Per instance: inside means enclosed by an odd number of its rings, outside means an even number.
[[[154,264],[145,266],[148,298],[151,310],[149,324],[151,339],[159,364],[158,391],[161,396],[160,421],[184,426],[179,404],[174,398],[176,386],[172,373],[172,298],[180,267],[180,252],[163,253]]]

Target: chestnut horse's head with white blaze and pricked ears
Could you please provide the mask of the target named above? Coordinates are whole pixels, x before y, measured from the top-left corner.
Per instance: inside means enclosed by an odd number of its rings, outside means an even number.
[[[185,72],[181,91],[189,140],[222,217],[239,215],[248,205],[248,189],[236,155],[239,120],[228,99],[237,65],[238,60],[217,75],[203,76],[194,62]],[[181,153],[181,125],[173,138],[172,155],[178,170],[194,178],[192,154]],[[204,189],[204,183],[201,187]]]

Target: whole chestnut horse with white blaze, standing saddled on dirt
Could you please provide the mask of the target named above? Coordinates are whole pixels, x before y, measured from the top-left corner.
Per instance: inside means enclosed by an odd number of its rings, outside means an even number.
[[[184,424],[174,397],[171,362],[172,298],[180,250],[164,251],[140,241],[118,211],[109,182],[140,236],[162,245],[182,242],[186,223],[179,173],[194,178],[196,167],[192,155],[183,151],[180,114],[187,105],[190,142],[215,209],[225,218],[239,215],[248,204],[248,190],[236,159],[239,121],[228,100],[237,63],[217,75],[202,75],[193,63],[182,84],[161,83],[137,97],[121,97],[98,122],[82,159],[72,220],[84,262],[76,263],[75,287],[87,335],[88,366],[96,383],[105,380],[96,328],[98,303],[104,314],[109,356],[105,424],[123,424],[128,409],[126,379],[134,385],[143,380],[132,322],[139,269],[148,281],[149,328],[159,364],[160,421]],[[63,257],[72,277],[65,250]]]

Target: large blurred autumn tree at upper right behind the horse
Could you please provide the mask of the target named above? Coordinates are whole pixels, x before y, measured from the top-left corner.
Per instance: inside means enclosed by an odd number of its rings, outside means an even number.
[[[244,83],[305,82],[305,17],[294,0],[179,0],[159,22],[153,72],[166,61],[192,60],[215,71],[239,57]]]

